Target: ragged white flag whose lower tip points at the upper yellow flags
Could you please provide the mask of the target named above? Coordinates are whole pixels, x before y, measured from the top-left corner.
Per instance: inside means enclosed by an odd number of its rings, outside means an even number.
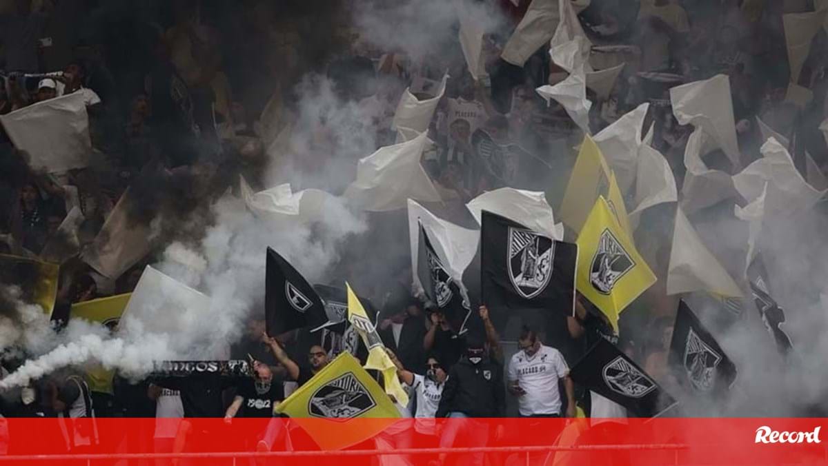
[[[550,86],[543,85],[536,90],[546,103],[552,99],[560,103],[566,113],[572,118],[580,129],[590,133],[590,108],[592,103],[586,98],[586,76],[584,61],[580,58],[580,45],[582,40],[576,37],[574,41],[566,42],[551,50],[552,60],[556,65],[565,70],[570,70],[570,75],[558,84]],[[561,65],[563,64],[563,65]]]

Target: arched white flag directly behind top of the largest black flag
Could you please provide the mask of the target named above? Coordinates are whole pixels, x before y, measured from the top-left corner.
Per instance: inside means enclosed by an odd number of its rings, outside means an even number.
[[[555,223],[555,214],[546,202],[546,195],[540,191],[500,188],[471,199],[466,208],[477,223],[481,222],[482,212],[488,210],[549,238],[558,241],[564,238],[563,224]]]

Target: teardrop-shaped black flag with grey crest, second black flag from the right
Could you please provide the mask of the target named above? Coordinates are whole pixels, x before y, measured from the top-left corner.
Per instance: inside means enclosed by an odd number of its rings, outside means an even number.
[[[678,380],[696,392],[721,393],[736,380],[735,364],[684,301],[678,303],[667,361]]]

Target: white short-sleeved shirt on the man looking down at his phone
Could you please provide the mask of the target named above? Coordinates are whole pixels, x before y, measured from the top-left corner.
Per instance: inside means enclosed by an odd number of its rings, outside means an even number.
[[[532,357],[523,351],[515,353],[509,362],[508,380],[517,380],[526,392],[517,399],[520,414],[561,414],[558,380],[568,374],[569,367],[561,352],[551,346],[541,345]]]

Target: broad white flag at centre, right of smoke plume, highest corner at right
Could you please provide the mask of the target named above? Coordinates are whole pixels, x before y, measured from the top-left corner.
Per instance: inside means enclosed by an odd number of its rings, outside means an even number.
[[[423,132],[411,141],[380,147],[360,159],[357,179],[344,197],[360,209],[374,212],[405,209],[408,199],[440,202],[440,194],[420,165],[422,152],[430,143]]]

